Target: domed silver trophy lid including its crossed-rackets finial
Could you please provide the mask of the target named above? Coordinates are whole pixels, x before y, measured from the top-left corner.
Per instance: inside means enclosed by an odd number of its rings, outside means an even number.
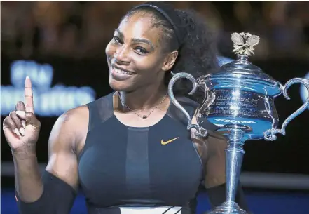
[[[280,93],[280,83],[272,76],[264,73],[261,68],[249,62],[249,56],[254,55],[254,47],[259,44],[259,36],[249,33],[231,34],[233,41],[233,52],[237,55],[237,60],[222,65],[217,72],[204,76],[206,79],[217,83],[242,82],[243,84],[259,84],[259,88],[266,88],[270,93]],[[267,87],[261,87],[267,86]],[[271,88],[271,89],[270,89]]]

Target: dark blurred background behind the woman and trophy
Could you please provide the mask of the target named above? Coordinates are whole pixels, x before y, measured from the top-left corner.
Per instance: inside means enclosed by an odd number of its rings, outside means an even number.
[[[23,99],[25,76],[30,76],[36,114],[42,123],[37,144],[42,166],[48,161],[48,137],[57,116],[111,92],[105,46],[120,18],[140,3],[1,1],[1,124],[15,103]],[[177,8],[193,8],[205,17],[218,38],[219,57],[235,58],[231,52],[231,33],[250,32],[261,37],[255,55],[250,58],[255,65],[281,83],[294,77],[309,79],[308,1],[172,1],[172,4]],[[275,100],[280,127],[307,98],[305,88],[299,85],[291,86],[289,95],[291,100],[283,96]],[[280,210],[281,214],[309,213],[309,203],[301,202],[301,199],[309,201],[309,109],[291,121],[286,131],[287,135],[278,135],[275,142],[259,140],[245,145],[242,183],[249,197],[253,197],[250,203],[256,207],[255,213],[262,212],[260,203],[268,204],[264,214],[275,214],[284,204],[287,207]],[[5,196],[1,195],[1,210],[8,214],[16,212],[11,190],[12,158],[3,132],[1,187],[8,189]],[[297,193],[282,198],[287,200],[284,203],[278,189],[284,192],[283,196]],[[256,196],[259,191],[263,191],[259,193],[262,196]],[[268,200],[268,193],[277,196],[272,198],[275,202]],[[6,206],[2,207],[4,203]]]

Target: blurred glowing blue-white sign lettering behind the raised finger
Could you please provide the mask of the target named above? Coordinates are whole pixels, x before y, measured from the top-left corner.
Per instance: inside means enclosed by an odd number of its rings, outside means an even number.
[[[11,65],[12,86],[1,86],[1,116],[7,116],[18,101],[24,100],[26,76],[32,80],[34,112],[39,116],[60,116],[69,109],[95,100],[95,90],[90,86],[56,84],[51,87],[52,65],[18,60]]]

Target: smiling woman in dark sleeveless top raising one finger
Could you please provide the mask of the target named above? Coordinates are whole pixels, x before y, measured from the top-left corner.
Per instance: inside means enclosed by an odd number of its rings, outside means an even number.
[[[115,92],[57,119],[42,178],[35,152],[41,123],[27,78],[25,105],[18,102],[4,120],[20,213],[69,213],[79,185],[91,214],[195,213],[201,182],[213,206],[224,202],[226,140],[207,121],[207,138],[188,132],[166,87],[171,71],[216,69],[213,46],[194,13],[160,2],[132,8],[106,48]],[[190,89],[185,82],[175,93],[193,116],[198,105],[181,96]]]

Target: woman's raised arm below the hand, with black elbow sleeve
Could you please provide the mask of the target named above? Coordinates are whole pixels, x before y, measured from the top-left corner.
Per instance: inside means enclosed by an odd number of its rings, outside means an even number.
[[[88,121],[85,108],[72,109],[57,119],[48,142],[48,166],[42,175],[35,151],[13,154],[20,213],[69,213],[78,189],[75,145],[87,132],[82,127],[85,125],[80,125]]]

